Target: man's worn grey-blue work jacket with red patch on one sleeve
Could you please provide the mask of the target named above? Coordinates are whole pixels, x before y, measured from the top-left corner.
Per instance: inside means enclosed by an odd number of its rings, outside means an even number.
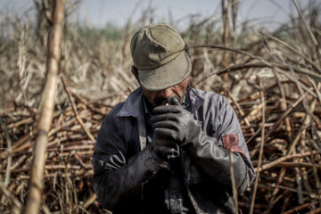
[[[207,138],[180,157],[184,186],[196,213],[234,213],[228,151],[240,193],[255,177],[238,119],[222,95],[193,88],[187,95]],[[143,97],[138,88],[116,105],[103,119],[95,145],[93,187],[98,202],[115,213],[164,213],[158,206],[162,193],[152,190],[167,165],[146,146]]]

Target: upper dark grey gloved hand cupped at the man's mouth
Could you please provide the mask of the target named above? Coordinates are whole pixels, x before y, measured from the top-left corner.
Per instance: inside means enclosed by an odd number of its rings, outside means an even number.
[[[154,135],[165,136],[178,145],[187,144],[200,131],[193,115],[180,105],[163,105],[153,109]]]

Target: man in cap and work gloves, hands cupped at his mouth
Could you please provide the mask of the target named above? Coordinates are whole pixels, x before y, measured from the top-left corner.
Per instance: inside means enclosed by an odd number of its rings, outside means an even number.
[[[255,174],[231,105],[188,86],[192,62],[169,25],[138,30],[130,48],[141,87],[103,119],[97,201],[113,213],[235,213],[230,165],[239,193]]]

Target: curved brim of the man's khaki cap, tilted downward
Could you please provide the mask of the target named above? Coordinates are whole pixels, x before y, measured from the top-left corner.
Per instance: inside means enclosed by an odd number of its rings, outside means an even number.
[[[176,86],[185,80],[192,70],[192,63],[183,51],[174,60],[153,70],[138,70],[140,84],[147,90],[158,91]]]

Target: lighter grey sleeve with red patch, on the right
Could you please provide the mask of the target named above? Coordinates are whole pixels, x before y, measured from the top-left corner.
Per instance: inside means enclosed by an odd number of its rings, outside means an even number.
[[[216,135],[208,136],[199,127],[193,144],[188,145],[186,150],[203,172],[218,184],[225,185],[229,191],[232,190],[232,164],[235,184],[242,193],[251,185],[255,177],[254,169],[235,111],[225,97],[218,95],[217,98],[206,106],[209,111],[216,112],[210,113],[211,118],[208,119]]]

